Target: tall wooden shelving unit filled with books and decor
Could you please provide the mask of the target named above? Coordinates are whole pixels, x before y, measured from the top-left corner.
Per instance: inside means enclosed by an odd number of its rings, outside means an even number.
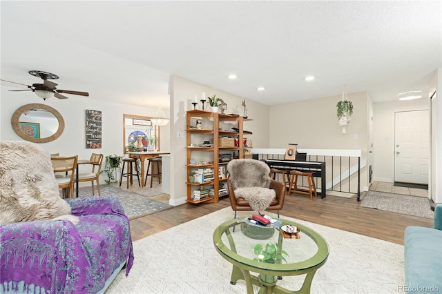
[[[195,128],[196,119],[202,120],[203,128]],[[186,153],[187,153],[187,202],[198,204],[202,202],[218,203],[220,195],[218,193],[222,183],[227,180],[227,177],[220,179],[220,166],[227,167],[228,162],[219,162],[220,153],[231,153],[236,158],[244,157],[244,121],[250,121],[244,117],[237,117],[234,115],[222,115],[216,112],[209,112],[205,110],[189,110],[186,112]],[[222,126],[231,125],[238,128],[238,132],[233,130],[220,130]],[[238,146],[220,147],[220,137],[231,137],[238,139]],[[200,146],[204,141],[211,141],[210,147]],[[193,144],[193,145],[191,145]],[[201,160],[203,158],[203,160]],[[191,162],[195,159],[196,162]],[[204,161],[204,159],[206,159]],[[210,182],[204,183],[189,183],[189,173],[191,170],[201,168],[212,168],[214,179]],[[195,189],[204,190],[206,188],[213,188],[214,195],[201,200],[193,199],[193,191]],[[227,195],[223,195],[227,196]]]

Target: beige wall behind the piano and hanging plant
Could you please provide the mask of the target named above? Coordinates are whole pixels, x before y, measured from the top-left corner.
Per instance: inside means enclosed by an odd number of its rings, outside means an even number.
[[[336,116],[336,104],[341,96],[271,106],[270,148],[286,148],[293,143],[300,149],[356,149],[362,150],[361,161],[366,160],[367,112],[371,99],[367,92],[347,93],[347,97],[354,111],[345,134]],[[361,168],[362,190],[368,189],[368,180],[367,167]]]

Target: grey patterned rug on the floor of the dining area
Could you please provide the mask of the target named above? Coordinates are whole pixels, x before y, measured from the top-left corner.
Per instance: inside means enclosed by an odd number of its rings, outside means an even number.
[[[173,205],[164,204],[155,199],[151,199],[150,197],[128,192],[126,190],[115,188],[107,184],[100,185],[99,189],[102,195],[112,195],[117,197],[124,208],[124,213],[126,213],[129,219],[135,219],[144,215],[156,213],[160,210],[173,208]],[[79,197],[88,197],[92,195],[92,190],[90,186],[79,188],[78,192]],[[156,192],[152,191],[151,196],[155,197],[155,195],[161,193],[161,190],[158,193]],[[98,195],[96,187],[95,195]]]

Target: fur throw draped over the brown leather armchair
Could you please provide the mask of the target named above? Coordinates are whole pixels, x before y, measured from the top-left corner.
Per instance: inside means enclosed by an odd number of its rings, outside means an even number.
[[[227,164],[230,182],[235,197],[243,197],[253,210],[266,210],[276,197],[276,192],[269,189],[270,168],[256,159],[233,159]]]

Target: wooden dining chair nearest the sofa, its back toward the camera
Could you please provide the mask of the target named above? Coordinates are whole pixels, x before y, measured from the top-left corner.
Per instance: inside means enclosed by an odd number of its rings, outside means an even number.
[[[78,156],[50,157],[54,173],[69,173],[66,177],[55,177],[58,188],[63,189],[63,197],[74,197],[74,174],[77,168]]]

